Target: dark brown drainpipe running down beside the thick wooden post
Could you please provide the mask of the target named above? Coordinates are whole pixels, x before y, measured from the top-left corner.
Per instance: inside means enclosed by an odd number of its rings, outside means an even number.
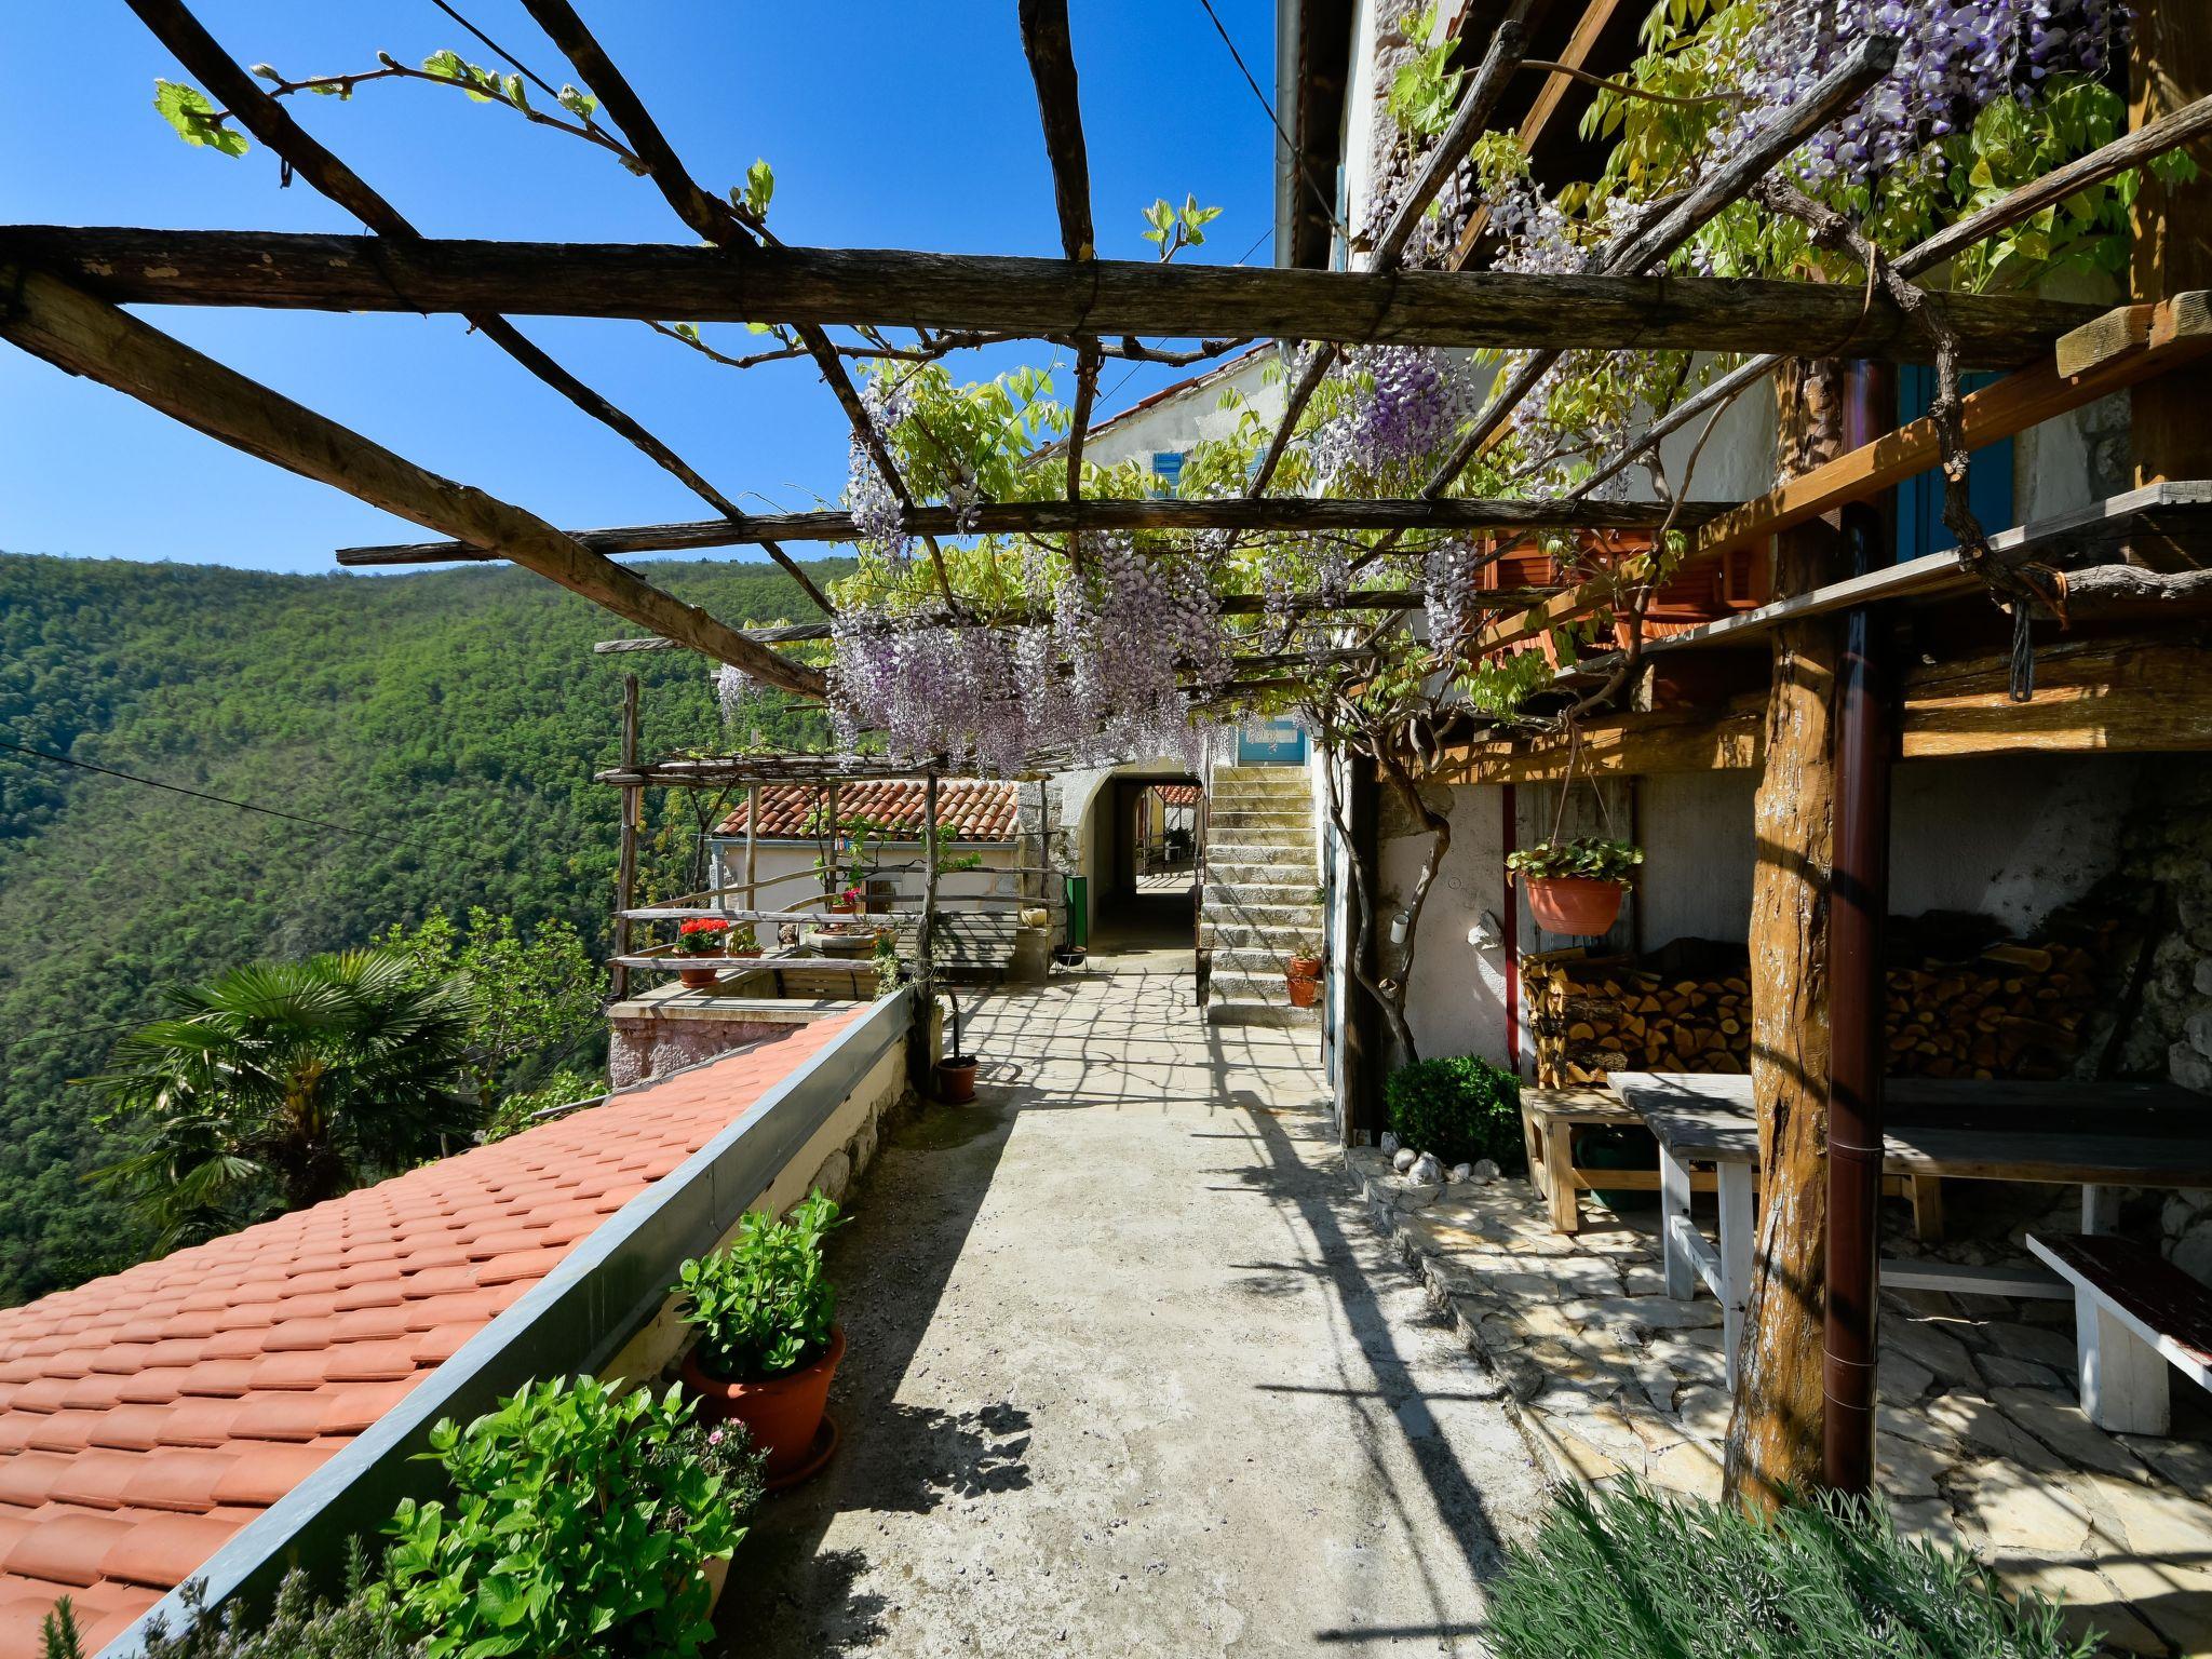
[[[1845,385],[1845,445],[1856,449],[1896,425],[1896,372],[1851,363]],[[1893,491],[1843,509],[1851,575],[1889,560],[1893,524]],[[1836,695],[1820,1480],[1832,1491],[1865,1495],[1874,1486],[1882,1073],[1889,1060],[1882,929],[1889,916],[1889,768],[1898,737],[1889,626],[1874,606],[1856,606],[1845,617]]]

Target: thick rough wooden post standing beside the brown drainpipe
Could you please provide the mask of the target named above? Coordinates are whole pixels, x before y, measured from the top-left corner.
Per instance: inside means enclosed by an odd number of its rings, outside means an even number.
[[[1776,376],[1781,471],[1840,449],[1834,363]],[[1774,597],[1840,575],[1825,520],[1774,544]],[[1759,1102],[1759,1250],[1736,1358],[1725,1493],[1770,1509],[1820,1473],[1820,1285],[1827,1248],[1827,885],[1836,803],[1834,692],[1840,622],[1774,630],[1765,774],[1752,810],[1752,1095]]]

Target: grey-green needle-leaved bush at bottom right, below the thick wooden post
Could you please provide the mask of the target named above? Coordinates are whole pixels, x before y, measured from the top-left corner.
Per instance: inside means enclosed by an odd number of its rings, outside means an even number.
[[[1880,1504],[1750,1520],[1626,1484],[1568,1491],[1506,1553],[1482,1630],[1498,1659],[2086,1659],[2059,1610],[1962,1548],[1909,1544]]]

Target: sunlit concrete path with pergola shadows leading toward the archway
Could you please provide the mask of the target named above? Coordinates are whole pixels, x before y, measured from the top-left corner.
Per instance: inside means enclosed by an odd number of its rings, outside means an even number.
[[[1480,1655],[1537,1471],[1360,1219],[1314,1031],[1206,1026],[1190,956],[973,1013],[832,1267],[845,1442],[772,1500],[737,1655]]]

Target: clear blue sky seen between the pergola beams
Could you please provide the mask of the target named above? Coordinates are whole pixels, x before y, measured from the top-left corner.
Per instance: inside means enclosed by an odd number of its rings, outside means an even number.
[[[473,49],[429,0],[376,7],[201,0],[243,62],[292,77]],[[520,0],[460,7],[551,82],[573,80]],[[770,223],[794,243],[1055,254],[1051,170],[1013,0],[641,4],[582,0],[692,173],[776,170]],[[1214,0],[1272,84],[1267,0]],[[184,80],[119,0],[15,4],[0,95],[15,164],[0,217],[358,230],[263,148],[228,159],[179,142],[155,77]],[[1267,115],[1199,0],[1073,0],[1099,252],[1144,259],[1139,210],[1194,190],[1219,206],[1183,259],[1272,263]],[[64,73],[66,71],[66,73]],[[686,241],[655,188],[566,135],[434,86],[378,84],[294,113],[427,234]],[[27,135],[27,137],[24,137]],[[1254,246],[1256,243],[1256,246]],[[453,319],[148,310],[210,356],[557,524],[703,518],[706,507]],[[672,319],[677,321],[677,319]],[[526,332],[630,409],[741,504],[803,509],[845,480],[845,425],[812,365],[743,374],[639,323],[524,319]],[[743,349],[750,336],[723,332]],[[1051,361],[1051,347],[1029,356]],[[956,358],[964,372],[1004,354]],[[1106,387],[1126,365],[1108,363]],[[1102,414],[1172,378],[1139,369]],[[1057,376],[1073,396],[1073,376]],[[0,345],[0,549],[327,571],[352,542],[418,531],[239,456],[128,398]]]

